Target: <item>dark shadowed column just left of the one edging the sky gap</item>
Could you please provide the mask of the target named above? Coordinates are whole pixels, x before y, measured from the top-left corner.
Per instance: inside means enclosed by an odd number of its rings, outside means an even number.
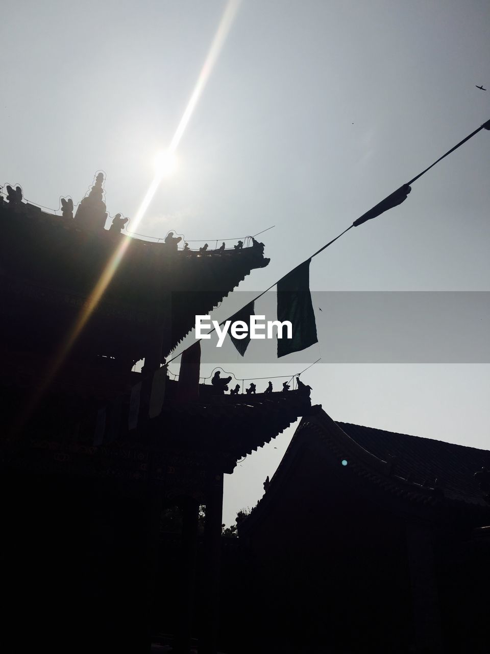
[[[179,613],[173,645],[173,651],[178,654],[188,654],[191,649],[198,523],[199,502],[190,497],[185,498],[182,502]]]

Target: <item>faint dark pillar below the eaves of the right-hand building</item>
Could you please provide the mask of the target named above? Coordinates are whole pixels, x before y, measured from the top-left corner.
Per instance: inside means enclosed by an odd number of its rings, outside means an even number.
[[[414,652],[442,651],[440,604],[434,567],[433,532],[424,525],[408,525],[407,552],[414,615]]]

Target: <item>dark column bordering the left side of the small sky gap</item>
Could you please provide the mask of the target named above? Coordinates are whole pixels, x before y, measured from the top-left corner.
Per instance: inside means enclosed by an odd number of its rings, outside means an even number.
[[[200,654],[216,654],[220,617],[221,525],[223,521],[223,473],[208,479],[204,525],[203,633]]]

